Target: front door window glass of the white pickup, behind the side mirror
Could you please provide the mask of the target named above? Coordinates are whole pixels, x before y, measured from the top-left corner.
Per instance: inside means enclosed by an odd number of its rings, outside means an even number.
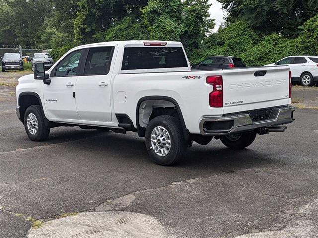
[[[71,52],[56,66],[55,77],[75,76],[79,74],[79,59],[82,50]]]

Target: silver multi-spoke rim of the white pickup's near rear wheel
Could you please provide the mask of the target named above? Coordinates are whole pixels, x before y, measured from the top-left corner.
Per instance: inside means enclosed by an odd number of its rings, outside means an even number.
[[[159,156],[166,156],[171,149],[171,137],[162,126],[157,126],[151,132],[151,149]]]

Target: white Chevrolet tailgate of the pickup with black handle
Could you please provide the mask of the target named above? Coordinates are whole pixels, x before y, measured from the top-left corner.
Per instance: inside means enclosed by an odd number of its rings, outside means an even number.
[[[223,113],[287,105],[289,67],[223,70]]]

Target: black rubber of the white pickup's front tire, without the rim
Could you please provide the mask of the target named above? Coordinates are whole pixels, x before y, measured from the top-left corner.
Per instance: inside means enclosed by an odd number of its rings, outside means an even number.
[[[35,117],[37,119],[38,128],[37,128],[37,131],[35,132],[35,134],[32,134],[32,132],[34,133],[34,131],[30,131],[28,128],[27,123],[28,123],[28,116],[30,114],[35,115]],[[29,123],[29,125],[30,125],[30,123]],[[30,140],[43,141],[49,137],[50,127],[46,126],[44,123],[44,117],[41,113],[40,105],[32,105],[26,109],[26,111],[24,113],[24,128],[25,128],[26,134],[28,135]]]

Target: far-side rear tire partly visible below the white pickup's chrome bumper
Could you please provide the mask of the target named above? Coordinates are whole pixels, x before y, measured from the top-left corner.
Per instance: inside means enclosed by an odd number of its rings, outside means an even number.
[[[237,138],[236,138],[237,137]],[[243,134],[233,134],[225,135],[220,137],[221,142],[230,149],[243,149],[251,145],[256,138],[255,132],[243,133]]]

